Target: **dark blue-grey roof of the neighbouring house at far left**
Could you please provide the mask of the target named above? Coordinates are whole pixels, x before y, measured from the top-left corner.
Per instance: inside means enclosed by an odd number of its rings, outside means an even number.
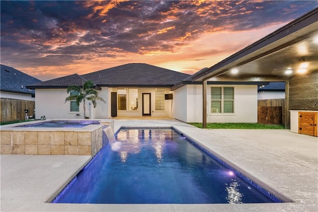
[[[26,88],[26,86],[29,84],[42,82],[41,80],[38,80],[12,67],[8,67],[2,64],[0,64],[0,66],[1,91],[34,95],[34,90],[29,90],[28,88]]]

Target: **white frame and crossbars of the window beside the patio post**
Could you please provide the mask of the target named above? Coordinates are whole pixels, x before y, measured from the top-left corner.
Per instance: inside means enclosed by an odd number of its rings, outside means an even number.
[[[212,112],[211,111],[211,107],[212,107],[212,98],[211,98],[211,89],[212,88],[221,88],[221,112]],[[233,88],[233,112],[224,112],[224,101],[231,101],[231,100],[224,100],[224,88]],[[235,86],[222,86],[222,85],[214,85],[214,86],[210,86],[209,90],[207,92],[208,95],[208,109],[209,109],[209,115],[234,115],[235,114]],[[216,100],[215,100],[216,101]]]

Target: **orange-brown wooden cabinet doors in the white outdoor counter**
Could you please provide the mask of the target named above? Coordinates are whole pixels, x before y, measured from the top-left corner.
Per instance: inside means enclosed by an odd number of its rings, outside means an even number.
[[[317,114],[318,112],[298,112],[298,133],[317,136]]]

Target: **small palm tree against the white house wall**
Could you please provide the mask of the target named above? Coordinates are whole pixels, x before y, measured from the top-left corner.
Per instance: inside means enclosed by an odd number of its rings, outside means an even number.
[[[76,101],[76,105],[79,106],[79,104],[83,101],[83,108],[84,108],[84,118],[86,118],[86,107],[85,107],[85,101],[90,101],[94,107],[96,107],[96,101],[101,101],[103,103],[106,103],[105,100],[103,100],[101,97],[98,97],[98,93],[95,89],[92,87],[94,84],[91,81],[86,81],[83,83],[82,87],[72,85],[67,88],[68,94],[72,91],[78,92],[77,95],[71,95],[67,98],[65,98],[65,103],[67,101]]]

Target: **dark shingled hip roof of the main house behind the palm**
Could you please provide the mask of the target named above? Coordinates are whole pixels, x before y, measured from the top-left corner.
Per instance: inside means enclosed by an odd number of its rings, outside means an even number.
[[[29,85],[28,88],[65,88],[70,85],[82,85],[83,80],[92,81],[96,86],[104,87],[166,87],[191,75],[152,66],[145,63],[129,63],[84,75],[70,75],[42,83]]]

